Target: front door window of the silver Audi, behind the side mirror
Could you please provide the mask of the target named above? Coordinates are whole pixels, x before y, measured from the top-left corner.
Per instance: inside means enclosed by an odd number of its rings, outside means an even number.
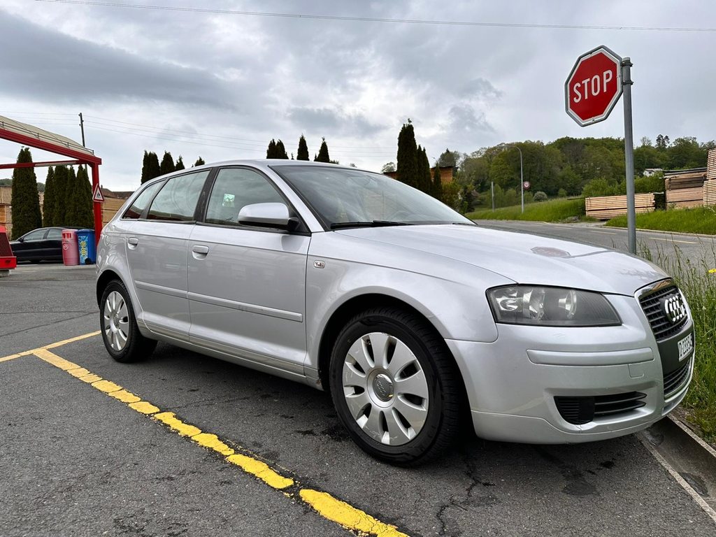
[[[238,213],[252,203],[286,203],[263,175],[246,168],[219,170],[206,208],[206,221],[238,224]]]

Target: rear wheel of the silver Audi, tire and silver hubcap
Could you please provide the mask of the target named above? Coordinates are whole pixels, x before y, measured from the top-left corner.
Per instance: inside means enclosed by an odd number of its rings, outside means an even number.
[[[137,362],[154,352],[157,342],[140,333],[129,293],[121,281],[107,284],[100,304],[102,340],[112,358],[117,362]]]

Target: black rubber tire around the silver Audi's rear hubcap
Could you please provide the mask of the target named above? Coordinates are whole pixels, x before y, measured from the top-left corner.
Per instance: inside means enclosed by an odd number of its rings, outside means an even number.
[[[126,316],[122,316],[122,319],[120,319],[126,329],[125,345],[121,349],[112,347],[112,342],[110,341],[112,329],[106,328],[108,318],[105,317],[105,310],[107,312],[110,310],[110,305],[107,304],[107,300],[110,298],[116,299],[117,295],[113,295],[115,293],[121,296],[126,306]],[[100,301],[100,331],[102,332],[102,341],[105,342],[105,349],[107,349],[110,356],[117,360],[117,362],[138,362],[147,359],[154,352],[155,347],[157,347],[155,339],[149,339],[140,333],[130,295],[124,284],[119,280],[110,281],[105,287],[105,290],[102,291],[102,299]]]

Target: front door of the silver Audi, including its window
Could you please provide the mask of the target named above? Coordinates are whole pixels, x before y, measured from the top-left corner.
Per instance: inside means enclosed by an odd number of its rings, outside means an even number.
[[[289,205],[257,170],[218,170],[189,241],[190,341],[302,374],[309,233],[238,223],[243,206],[276,202]]]

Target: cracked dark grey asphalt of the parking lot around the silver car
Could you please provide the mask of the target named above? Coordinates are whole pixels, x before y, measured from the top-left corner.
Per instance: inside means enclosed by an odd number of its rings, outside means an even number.
[[[92,269],[22,266],[0,279],[0,356],[98,329]],[[393,468],[364,455],[330,397],[160,344],[117,364],[100,337],[52,352],[305,486],[410,536],[713,536],[636,437],[485,442]],[[0,536],[352,535],[32,355],[0,362]]]

